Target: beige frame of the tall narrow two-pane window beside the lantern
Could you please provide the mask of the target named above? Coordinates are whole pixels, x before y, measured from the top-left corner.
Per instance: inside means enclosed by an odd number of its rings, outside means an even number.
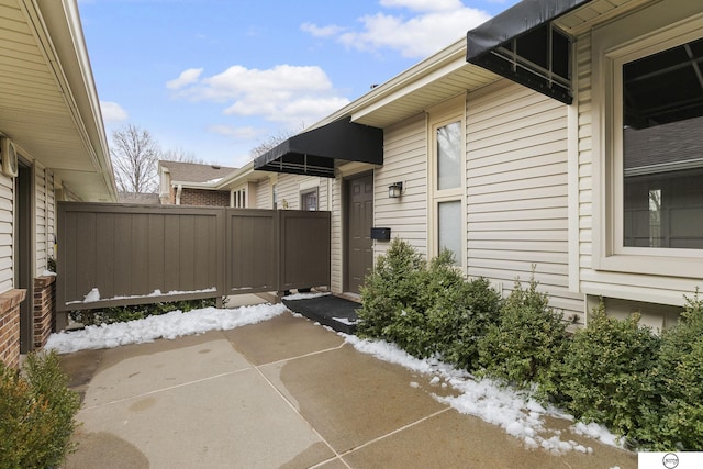
[[[427,111],[427,148],[429,150],[427,189],[427,250],[431,256],[439,254],[439,203],[459,201],[461,206],[461,247],[459,258],[455,259],[462,272],[467,271],[467,215],[466,215],[466,94],[460,94]],[[457,188],[438,189],[437,130],[458,122],[461,133],[460,142],[460,183]]]

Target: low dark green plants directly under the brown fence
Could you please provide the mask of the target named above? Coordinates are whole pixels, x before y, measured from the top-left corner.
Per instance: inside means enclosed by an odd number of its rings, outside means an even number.
[[[188,311],[214,306],[216,299],[169,301],[152,304],[132,304],[127,306],[101,308],[99,310],[71,311],[70,317],[86,326],[123,323],[126,321],[143,320],[148,316],[157,316],[171,311]]]

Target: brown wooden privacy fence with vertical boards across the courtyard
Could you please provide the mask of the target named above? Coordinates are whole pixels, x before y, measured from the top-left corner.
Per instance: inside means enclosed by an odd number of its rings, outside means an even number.
[[[59,202],[57,311],[330,286],[330,212]]]

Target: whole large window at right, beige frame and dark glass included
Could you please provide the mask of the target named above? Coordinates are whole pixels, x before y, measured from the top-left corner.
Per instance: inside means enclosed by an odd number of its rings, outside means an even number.
[[[593,268],[699,277],[703,13],[669,7],[681,16],[672,22],[659,10],[593,35],[593,137],[604,152],[593,161]]]

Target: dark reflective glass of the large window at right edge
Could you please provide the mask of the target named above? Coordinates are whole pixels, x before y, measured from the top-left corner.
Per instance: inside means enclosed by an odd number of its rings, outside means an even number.
[[[622,65],[623,245],[703,248],[703,38]]]

